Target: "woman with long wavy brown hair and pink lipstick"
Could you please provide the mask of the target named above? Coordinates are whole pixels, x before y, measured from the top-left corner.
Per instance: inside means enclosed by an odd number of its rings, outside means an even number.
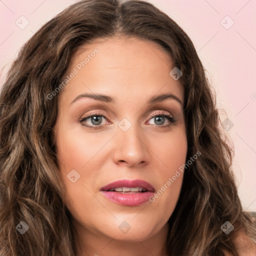
[[[83,0],[0,94],[0,254],[255,255],[194,46],[144,1]]]

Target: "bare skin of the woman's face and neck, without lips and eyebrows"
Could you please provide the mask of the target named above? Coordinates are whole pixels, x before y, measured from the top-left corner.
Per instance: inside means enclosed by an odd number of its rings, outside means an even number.
[[[154,202],[139,206],[112,202],[100,187],[119,179],[143,179],[157,191],[185,163],[183,87],[169,75],[174,66],[161,46],[139,38],[112,37],[86,44],[71,59],[67,74],[94,48],[98,54],[58,95],[54,129],[64,200],[77,234],[76,255],[166,255],[167,220],[178,200],[182,172]],[[152,96],[169,92],[182,104],[173,98],[147,103]],[[82,93],[109,95],[115,102],[81,97],[71,103]],[[95,111],[104,115],[101,128],[79,122]],[[162,111],[176,121],[163,118],[159,124],[150,117]],[[123,118],[131,124],[127,131],[118,126]],[[84,123],[96,126],[91,118]],[[72,169],[80,175],[74,183],[67,178]],[[131,227],[126,233],[118,228],[123,221]]]

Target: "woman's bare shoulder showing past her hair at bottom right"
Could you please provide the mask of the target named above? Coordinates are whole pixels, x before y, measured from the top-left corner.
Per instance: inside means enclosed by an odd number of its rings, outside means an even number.
[[[243,230],[239,231],[235,236],[234,245],[237,248],[239,256],[255,256],[256,243],[248,238]],[[233,256],[230,252],[224,251],[225,256]]]

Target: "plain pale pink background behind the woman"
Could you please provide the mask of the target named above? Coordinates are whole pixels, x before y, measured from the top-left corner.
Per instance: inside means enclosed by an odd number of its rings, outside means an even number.
[[[233,168],[243,207],[256,211],[256,0],[147,1],[167,13],[193,41],[216,91],[217,105],[234,123],[227,132],[234,143]],[[0,1],[0,84],[22,44],[74,2]],[[21,15],[29,21],[24,29],[15,23]],[[231,19],[224,18],[227,15]],[[223,121],[226,116],[220,113]]]

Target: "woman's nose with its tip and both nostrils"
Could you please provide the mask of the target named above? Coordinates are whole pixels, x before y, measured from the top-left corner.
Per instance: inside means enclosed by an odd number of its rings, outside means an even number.
[[[114,136],[113,160],[116,164],[141,167],[149,162],[148,138],[132,125],[128,130],[117,129]]]

